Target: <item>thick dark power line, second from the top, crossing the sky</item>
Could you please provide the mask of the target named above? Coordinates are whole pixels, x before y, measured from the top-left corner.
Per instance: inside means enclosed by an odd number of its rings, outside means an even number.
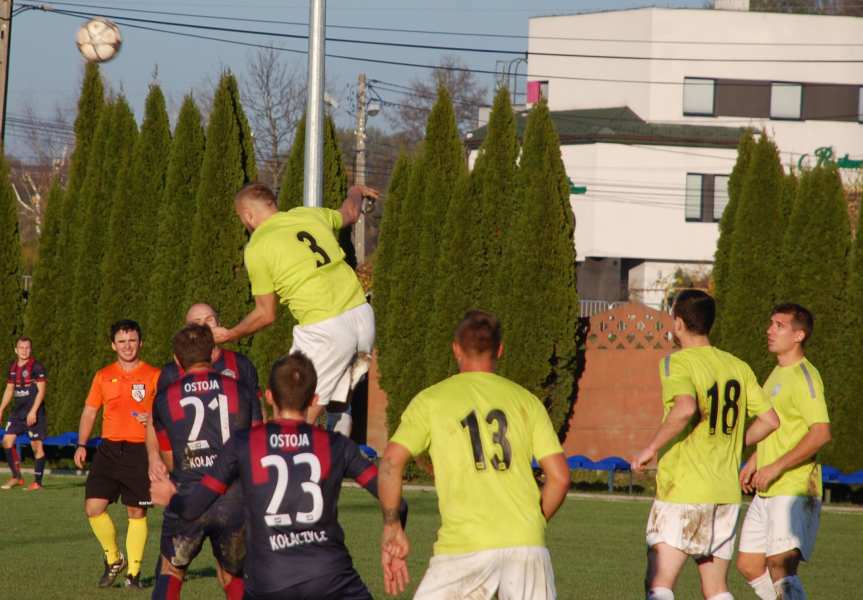
[[[33,5],[24,4],[22,6],[33,7]],[[43,7],[35,7],[41,8]],[[63,12],[70,15],[75,15],[78,17],[86,18],[91,17],[93,15],[89,13],[83,13],[78,11],[64,10],[64,11],[54,11],[54,12]],[[188,29],[199,29],[203,31],[214,31],[221,33],[239,33],[239,34],[251,34],[251,35],[263,35],[268,37],[276,37],[276,38],[284,38],[284,39],[296,39],[296,40],[307,40],[308,35],[297,34],[297,33],[278,33],[274,31],[260,31],[260,30],[252,30],[252,29],[241,29],[238,27],[221,27],[216,25],[201,25],[195,23],[182,23],[176,21],[162,21],[158,19],[144,19],[140,17],[128,17],[124,15],[115,15],[103,13],[99,16],[106,17],[109,19],[114,19],[118,22],[133,22],[133,23],[145,23],[147,25],[161,25],[161,26],[169,26],[169,27],[183,27]],[[585,58],[592,60],[628,60],[628,61],[660,61],[660,62],[695,62],[695,63],[711,63],[711,62],[723,62],[723,63],[793,63],[793,64],[860,64],[863,63],[863,58],[728,58],[728,57],[720,57],[720,58],[705,58],[705,57],[676,57],[676,56],[633,56],[633,55],[616,55],[616,54],[589,54],[589,53],[570,53],[570,52],[536,52],[529,50],[513,50],[513,49],[505,49],[505,48],[476,48],[470,46],[442,46],[438,44],[417,44],[417,43],[409,43],[409,42],[385,42],[380,40],[357,40],[350,38],[337,38],[337,37],[328,37],[328,42],[340,43],[340,44],[359,44],[366,46],[378,46],[378,47],[388,47],[388,48],[410,48],[414,50],[441,50],[446,52],[466,52],[466,53],[480,53],[480,54],[509,54],[509,55],[517,55],[517,56],[546,56],[546,57],[556,57],[556,58]]]

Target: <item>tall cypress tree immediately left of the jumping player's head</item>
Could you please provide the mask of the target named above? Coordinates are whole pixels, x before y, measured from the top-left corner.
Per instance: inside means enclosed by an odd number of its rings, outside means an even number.
[[[243,266],[247,236],[234,214],[234,195],[257,175],[251,130],[240,104],[237,80],[226,72],[213,97],[207,124],[186,269],[186,305],[208,302],[227,324],[245,317],[251,306]]]

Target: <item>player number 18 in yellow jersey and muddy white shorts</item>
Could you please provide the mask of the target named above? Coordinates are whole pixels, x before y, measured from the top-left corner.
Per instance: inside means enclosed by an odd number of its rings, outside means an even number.
[[[659,365],[664,417],[634,471],[660,454],[656,499],[647,520],[649,600],[673,600],[688,557],[709,600],[732,600],[726,578],[740,509],[738,470],[744,442],[779,425],[752,369],[710,345],[716,304],[700,290],[680,292],[674,337],[681,350]],[[757,417],[744,433],[747,417]]]

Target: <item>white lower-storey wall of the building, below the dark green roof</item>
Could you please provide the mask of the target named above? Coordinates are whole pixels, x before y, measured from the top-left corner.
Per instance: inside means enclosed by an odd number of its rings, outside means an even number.
[[[735,150],[582,144],[561,151],[567,175],[587,186],[570,196],[579,260],[713,261],[719,227],[686,221],[686,173],[727,175]]]

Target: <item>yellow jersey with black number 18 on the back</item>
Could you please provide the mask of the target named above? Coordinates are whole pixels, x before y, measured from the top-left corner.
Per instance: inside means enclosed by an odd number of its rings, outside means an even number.
[[[664,416],[677,396],[692,396],[698,412],[661,452],[656,498],[683,504],[740,502],[740,459],[746,418],[770,410],[752,369],[714,348],[686,348],[659,363]]]

